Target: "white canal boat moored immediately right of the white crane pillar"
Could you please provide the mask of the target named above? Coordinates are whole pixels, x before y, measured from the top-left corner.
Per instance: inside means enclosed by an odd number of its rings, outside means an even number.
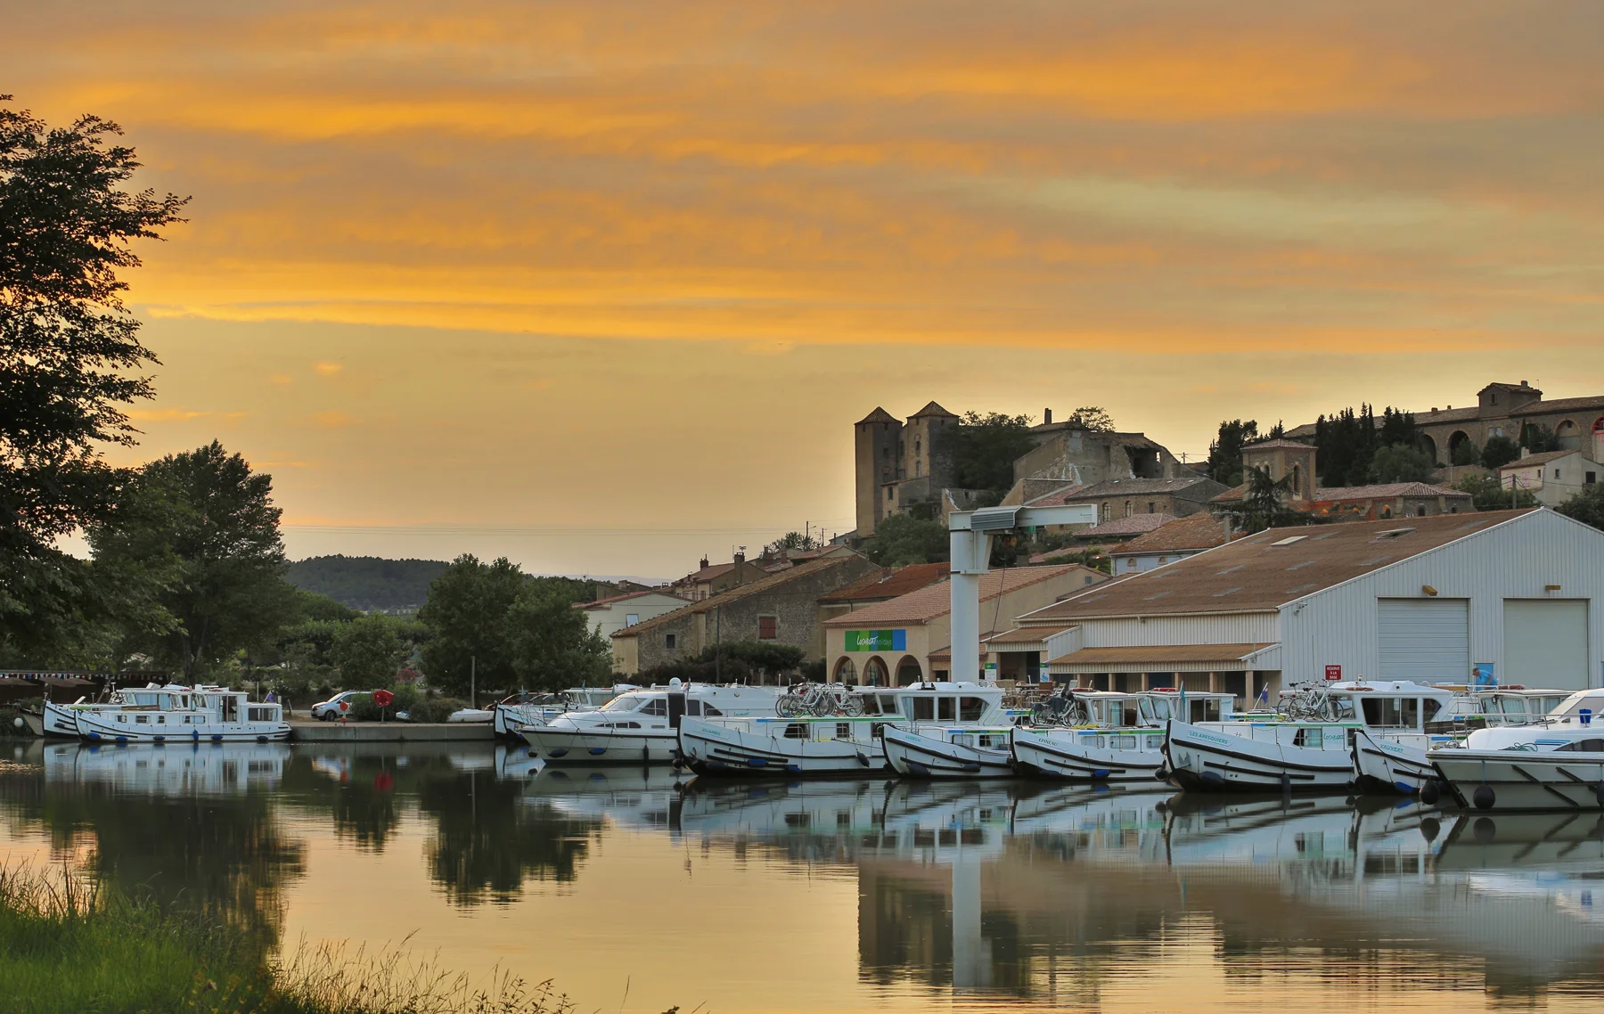
[[[1014,730],[1014,764],[1020,773],[1065,781],[1163,780],[1169,719],[1219,722],[1232,717],[1235,701],[1229,693],[1179,690],[1134,695],[1076,690],[1073,700],[1076,717],[1084,720]]]

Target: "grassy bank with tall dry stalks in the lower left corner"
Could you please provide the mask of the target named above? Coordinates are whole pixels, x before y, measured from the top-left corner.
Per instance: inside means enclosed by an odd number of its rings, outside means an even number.
[[[0,870],[0,1011],[6,1014],[568,1014],[550,984],[484,984],[401,953],[302,948],[268,961],[236,929]]]

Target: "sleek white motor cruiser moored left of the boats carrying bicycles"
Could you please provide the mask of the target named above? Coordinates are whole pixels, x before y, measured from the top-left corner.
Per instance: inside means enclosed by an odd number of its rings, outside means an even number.
[[[518,730],[547,764],[669,764],[678,757],[675,722],[775,714],[773,687],[712,687],[669,680],[629,690],[597,711],[569,711]],[[682,714],[674,714],[683,706]],[[683,716],[683,717],[682,717]]]

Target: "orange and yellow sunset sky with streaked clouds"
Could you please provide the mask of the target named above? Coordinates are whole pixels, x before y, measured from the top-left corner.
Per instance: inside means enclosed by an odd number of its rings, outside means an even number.
[[[677,576],[852,422],[1604,391],[1604,5],[0,0],[0,93],[192,194],[141,460],[292,557]]]

